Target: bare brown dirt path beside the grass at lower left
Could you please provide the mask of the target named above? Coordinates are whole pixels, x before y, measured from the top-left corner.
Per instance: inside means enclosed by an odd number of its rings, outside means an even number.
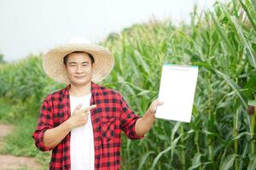
[[[0,123],[0,149],[3,147],[3,138],[14,130],[13,126]],[[40,169],[41,165],[33,157],[0,155],[0,170]]]

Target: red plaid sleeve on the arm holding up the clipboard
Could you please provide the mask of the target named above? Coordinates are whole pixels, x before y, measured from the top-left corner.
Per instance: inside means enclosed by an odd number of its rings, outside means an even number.
[[[137,120],[140,118],[137,114],[135,114],[127,103],[125,102],[125,99],[121,96],[120,99],[121,103],[121,115],[120,115],[120,123],[121,123],[121,129],[125,132],[126,136],[129,139],[143,139],[144,136],[138,136],[135,132],[135,124]]]

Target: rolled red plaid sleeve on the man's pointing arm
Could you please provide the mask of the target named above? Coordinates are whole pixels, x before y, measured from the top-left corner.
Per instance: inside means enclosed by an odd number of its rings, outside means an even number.
[[[35,141],[35,145],[39,150],[48,151],[52,150],[44,145],[44,133],[49,128],[54,127],[53,119],[52,119],[52,107],[49,105],[48,99],[44,99],[43,104],[41,105],[40,117],[38,119],[38,125],[36,130],[34,131],[32,138]]]

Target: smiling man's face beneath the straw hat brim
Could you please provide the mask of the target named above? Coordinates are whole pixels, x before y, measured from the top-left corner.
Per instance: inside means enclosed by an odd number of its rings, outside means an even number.
[[[83,86],[91,81],[93,65],[85,53],[68,54],[67,77],[75,86]]]

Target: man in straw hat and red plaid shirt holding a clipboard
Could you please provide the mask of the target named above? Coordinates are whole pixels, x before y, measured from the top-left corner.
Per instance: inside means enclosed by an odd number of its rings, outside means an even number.
[[[97,85],[112,71],[113,55],[83,38],[49,50],[43,68],[67,83],[44,99],[33,133],[39,150],[52,150],[49,169],[119,169],[121,130],[142,139],[162,103],[154,100],[140,117],[119,92]]]

